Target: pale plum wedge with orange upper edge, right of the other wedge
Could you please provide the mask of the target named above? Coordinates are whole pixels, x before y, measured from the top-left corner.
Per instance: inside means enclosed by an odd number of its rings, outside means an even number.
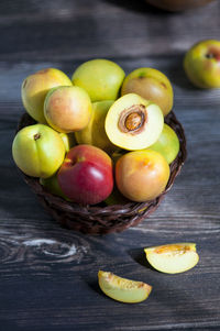
[[[145,249],[146,260],[158,272],[184,273],[199,261],[195,243],[176,243]]]

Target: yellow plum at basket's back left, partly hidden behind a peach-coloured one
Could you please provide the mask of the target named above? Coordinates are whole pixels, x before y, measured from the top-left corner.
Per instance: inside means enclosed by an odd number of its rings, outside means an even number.
[[[55,68],[40,70],[23,80],[21,88],[23,106],[37,122],[46,123],[44,99],[50,89],[57,86],[73,86],[73,84],[63,71]]]

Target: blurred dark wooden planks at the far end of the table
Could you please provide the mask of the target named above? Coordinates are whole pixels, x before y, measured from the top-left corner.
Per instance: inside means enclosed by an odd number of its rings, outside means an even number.
[[[218,1],[173,14],[144,1],[1,1],[0,59],[59,59],[177,54],[218,38]]]

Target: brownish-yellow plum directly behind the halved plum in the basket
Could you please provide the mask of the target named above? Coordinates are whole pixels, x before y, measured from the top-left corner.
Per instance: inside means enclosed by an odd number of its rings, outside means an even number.
[[[166,115],[173,108],[174,92],[168,78],[153,68],[139,68],[129,74],[122,85],[121,95],[136,93],[158,104]]]

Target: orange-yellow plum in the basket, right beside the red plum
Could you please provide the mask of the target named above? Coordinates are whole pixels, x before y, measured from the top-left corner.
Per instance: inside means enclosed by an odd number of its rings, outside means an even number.
[[[162,194],[169,178],[169,166],[151,150],[127,153],[116,164],[116,183],[128,199],[144,202]]]

